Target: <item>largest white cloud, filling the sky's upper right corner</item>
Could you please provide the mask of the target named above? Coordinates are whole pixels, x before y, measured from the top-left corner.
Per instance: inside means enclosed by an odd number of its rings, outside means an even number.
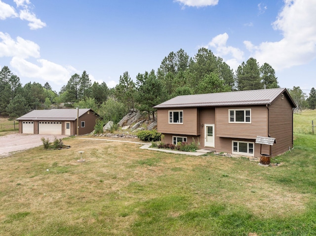
[[[260,64],[267,62],[276,70],[306,64],[316,58],[315,12],[315,0],[284,0],[284,7],[273,23],[283,38],[259,46],[249,41],[244,44]]]

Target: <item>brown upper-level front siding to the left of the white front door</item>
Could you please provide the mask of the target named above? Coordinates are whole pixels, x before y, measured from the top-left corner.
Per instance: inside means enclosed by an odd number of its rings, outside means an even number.
[[[169,124],[169,111],[183,110],[183,124]],[[157,130],[163,134],[199,135],[197,108],[158,109]]]

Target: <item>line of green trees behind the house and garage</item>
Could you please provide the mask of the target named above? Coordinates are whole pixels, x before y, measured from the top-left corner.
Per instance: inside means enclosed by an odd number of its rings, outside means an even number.
[[[0,114],[16,118],[33,109],[48,109],[52,105],[92,108],[104,122],[118,122],[130,109],[146,112],[155,119],[153,106],[178,95],[218,93],[229,91],[278,88],[275,70],[268,63],[259,65],[249,58],[234,72],[211,50],[200,48],[192,58],[183,50],[170,52],[154,69],[138,73],[132,79],[125,71],[115,88],[109,89],[105,82],[91,83],[89,75],[71,76],[60,92],[52,91],[48,82],[29,82],[22,86],[18,76],[6,66],[0,71]],[[315,109],[316,94],[310,97],[299,87],[289,90],[300,109]]]

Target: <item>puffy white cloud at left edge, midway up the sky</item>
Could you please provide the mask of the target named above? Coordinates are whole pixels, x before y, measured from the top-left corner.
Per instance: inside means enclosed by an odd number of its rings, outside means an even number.
[[[40,46],[33,41],[17,37],[16,41],[9,34],[0,32],[0,57],[39,58]]]

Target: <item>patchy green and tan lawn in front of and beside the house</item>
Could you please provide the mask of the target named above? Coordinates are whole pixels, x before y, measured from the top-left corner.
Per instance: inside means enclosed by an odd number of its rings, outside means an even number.
[[[305,115],[294,116],[295,130]],[[308,132],[295,132],[294,149],[268,168],[131,143],[63,142],[71,148],[0,159],[1,236],[316,235],[316,135]]]

